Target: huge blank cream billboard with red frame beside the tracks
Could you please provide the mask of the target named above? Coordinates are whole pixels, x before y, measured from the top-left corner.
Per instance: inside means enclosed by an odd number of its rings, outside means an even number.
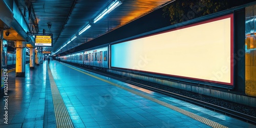
[[[233,86],[233,14],[111,45],[111,67]]]

